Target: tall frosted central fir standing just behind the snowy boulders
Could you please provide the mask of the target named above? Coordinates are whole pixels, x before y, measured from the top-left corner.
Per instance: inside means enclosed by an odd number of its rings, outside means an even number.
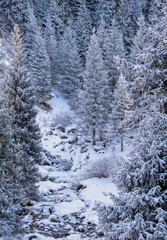
[[[106,131],[108,95],[107,75],[98,38],[93,34],[87,53],[86,70],[83,75],[83,92],[80,97],[82,131],[92,144],[103,140]]]

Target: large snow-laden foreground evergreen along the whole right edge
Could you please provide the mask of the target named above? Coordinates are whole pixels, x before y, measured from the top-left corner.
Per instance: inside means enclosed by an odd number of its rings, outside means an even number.
[[[99,208],[106,239],[166,239],[166,3],[163,9],[162,19],[149,28],[151,44],[137,55],[141,97],[136,113],[141,118],[129,158],[116,176],[121,194],[113,196],[115,205]]]

